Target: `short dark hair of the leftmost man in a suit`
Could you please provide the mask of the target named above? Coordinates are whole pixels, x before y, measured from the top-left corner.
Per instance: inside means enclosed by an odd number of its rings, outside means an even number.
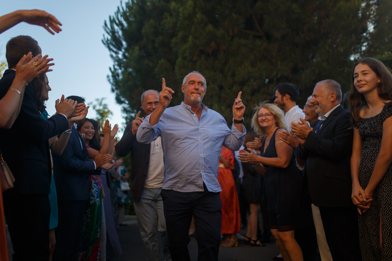
[[[38,42],[31,36],[19,35],[11,38],[5,47],[5,58],[8,68],[14,68],[20,59],[31,52],[33,56],[41,53]]]

